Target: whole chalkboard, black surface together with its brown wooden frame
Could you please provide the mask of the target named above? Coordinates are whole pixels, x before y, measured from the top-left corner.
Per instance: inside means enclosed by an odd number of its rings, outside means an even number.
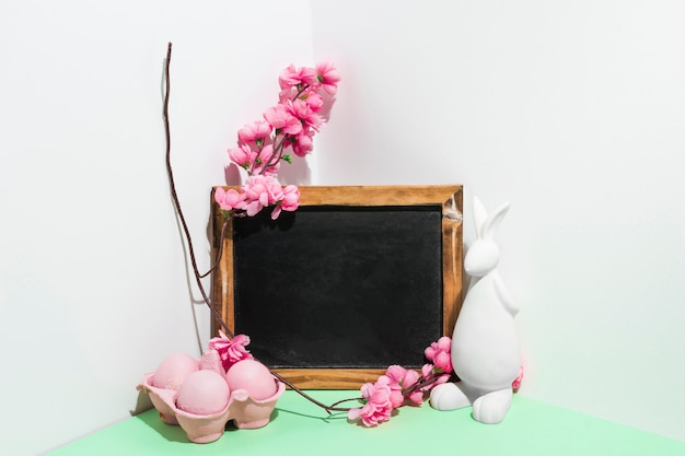
[[[300,190],[276,221],[232,220],[213,282],[222,318],[303,388],[420,367],[461,304],[461,186]],[[214,255],[222,225],[214,208]]]

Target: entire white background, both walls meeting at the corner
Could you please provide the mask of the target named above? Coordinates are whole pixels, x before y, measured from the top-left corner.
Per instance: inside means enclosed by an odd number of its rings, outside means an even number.
[[[511,201],[521,394],[685,440],[683,23],[676,0],[0,3],[3,452],[129,417],[209,337],[164,169],[169,40],[200,269],[237,128],[283,67],[330,59],[337,104],[288,180],[463,184],[467,244],[474,195]]]

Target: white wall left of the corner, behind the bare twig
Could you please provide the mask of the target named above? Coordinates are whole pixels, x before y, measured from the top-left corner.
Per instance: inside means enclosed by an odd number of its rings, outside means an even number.
[[[278,72],[312,61],[310,1],[0,2],[2,454],[130,416],[142,374],[209,336],[164,168],[169,40],[172,161],[206,270],[209,190]]]

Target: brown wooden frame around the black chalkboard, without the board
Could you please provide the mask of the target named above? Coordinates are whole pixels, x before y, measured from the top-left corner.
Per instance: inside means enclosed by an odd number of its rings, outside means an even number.
[[[212,217],[212,262],[218,261],[217,269],[213,273],[212,281],[212,301],[213,305],[227,323],[231,331],[236,329],[236,284],[234,270],[234,255],[239,244],[234,245],[235,220],[227,225],[224,236],[221,232],[224,225],[224,218],[219,210],[218,204],[213,200],[214,187],[211,195],[211,217]],[[223,187],[224,189],[237,187]],[[333,186],[317,187],[303,186],[300,187],[300,209],[293,214],[297,217],[299,211],[307,209],[320,209],[325,211],[326,208],[342,208],[344,210],[353,210],[357,208],[367,209],[370,212],[383,211],[386,208],[395,208],[399,210],[411,211],[414,208],[428,208],[428,210],[438,211],[437,220],[439,231],[439,254],[436,255],[436,261],[439,261],[437,268],[438,274],[441,273],[441,280],[438,279],[440,290],[433,290],[437,295],[441,296],[442,315],[437,331],[440,335],[451,336],[456,321],[456,317],[462,304],[462,213],[463,213],[463,191],[460,185],[431,185],[431,186]],[[418,210],[418,209],[417,209]],[[270,211],[265,209],[264,211]],[[281,214],[283,217],[286,212]],[[382,213],[379,217],[383,217]],[[409,214],[409,217],[411,217]],[[240,222],[237,222],[240,223]],[[432,223],[432,222],[431,222]],[[221,258],[217,258],[222,252]],[[240,288],[239,288],[240,289]],[[240,308],[240,303],[237,308]],[[251,303],[251,305],[255,305]],[[373,303],[368,303],[373,305]],[[407,305],[414,305],[408,303]],[[417,302],[417,306],[422,303]],[[417,309],[421,312],[421,309]],[[241,314],[242,315],[242,314]],[[312,324],[314,326],[315,324]],[[306,326],[304,326],[306,328]],[[311,326],[310,326],[311,327]],[[220,326],[218,321],[213,321],[213,332],[218,332]],[[350,335],[353,335],[355,328],[350,328]],[[239,328],[240,331],[240,328]],[[255,337],[248,336],[255,343]],[[295,335],[297,336],[297,335]],[[423,347],[428,346],[432,340],[421,340]],[[248,349],[252,344],[248,347]],[[265,361],[267,365],[267,363]],[[306,367],[274,367],[285,378],[302,389],[357,389],[365,382],[373,382],[379,375],[385,372],[390,364],[395,364],[394,360],[385,360],[381,366],[356,367],[356,366],[329,366],[324,362],[321,366],[313,365]],[[410,366],[407,366],[410,367]]]

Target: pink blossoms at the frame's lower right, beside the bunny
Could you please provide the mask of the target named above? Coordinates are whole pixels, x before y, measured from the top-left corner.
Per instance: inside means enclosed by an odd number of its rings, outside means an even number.
[[[452,340],[441,337],[425,350],[430,363],[421,372],[399,365],[391,365],[375,383],[361,387],[362,407],[348,411],[348,419],[359,420],[365,426],[374,426],[390,420],[393,410],[404,406],[420,406],[426,394],[436,385],[445,383],[452,373],[450,349]]]

